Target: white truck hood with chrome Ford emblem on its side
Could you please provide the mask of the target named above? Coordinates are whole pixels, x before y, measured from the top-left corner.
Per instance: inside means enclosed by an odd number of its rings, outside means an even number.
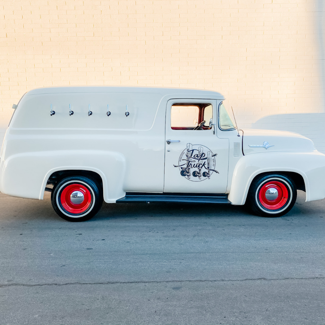
[[[274,151],[314,151],[313,141],[298,133],[274,130],[243,129],[243,153]]]

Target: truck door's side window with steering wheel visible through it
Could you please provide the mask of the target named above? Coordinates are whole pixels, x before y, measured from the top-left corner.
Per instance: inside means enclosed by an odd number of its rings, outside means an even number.
[[[173,130],[210,130],[210,103],[175,103],[171,106],[170,127]]]

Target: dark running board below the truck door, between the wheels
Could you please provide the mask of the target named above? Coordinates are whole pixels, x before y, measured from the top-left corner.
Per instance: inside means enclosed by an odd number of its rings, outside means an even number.
[[[210,193],[141,193],[127,192],[116,203],[129,202],[188,202],[188,203],[230,203],[227,194]]]

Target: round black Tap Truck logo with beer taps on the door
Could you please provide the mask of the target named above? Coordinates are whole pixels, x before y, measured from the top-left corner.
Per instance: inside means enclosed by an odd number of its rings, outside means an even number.
[[[178,165],[181,175],[190,181],[200,182],[205,179],[210,179],[213,172],[216,171],[216,160],[212,151],[202,145],[188,143],[186,149],[180,155]]]

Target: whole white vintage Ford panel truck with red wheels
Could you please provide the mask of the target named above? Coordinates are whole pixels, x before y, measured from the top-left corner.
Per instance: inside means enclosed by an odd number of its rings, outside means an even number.
[[[299,134],[238,130],[217,92],[50,87],[13,105],[0,191],[84,221],[107,203],[246,205],[276,217],[325,197],[325,155]],[[217,212],[216,212],[217,213]]]

